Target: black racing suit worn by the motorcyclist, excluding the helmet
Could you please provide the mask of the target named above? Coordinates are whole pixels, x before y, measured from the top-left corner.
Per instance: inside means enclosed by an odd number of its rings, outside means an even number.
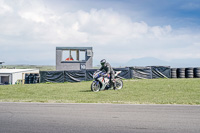
[[[116,87],[116,83],[115,83],[115,72],[112,69],[111,65],[109,63],[105,63],[103,66],[101,66],[100,68],[101,71],[105,71],[106,74],[110,74],[110,85],[112,87],[112,85],[114,85],[114,88]],[[111,83],[112,82],[112,83]]]

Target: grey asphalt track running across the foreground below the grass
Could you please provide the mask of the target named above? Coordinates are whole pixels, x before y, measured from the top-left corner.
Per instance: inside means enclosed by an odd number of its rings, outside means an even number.
[[[200,133],[200,106],[0,103],[0,133]]]

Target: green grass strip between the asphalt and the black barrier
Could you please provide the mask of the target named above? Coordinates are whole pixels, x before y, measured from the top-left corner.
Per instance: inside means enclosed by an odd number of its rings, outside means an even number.
[[[90,82],[0,86],[1,102],[200,104],[200,79],[124,80],[122,90],[90,91]]]

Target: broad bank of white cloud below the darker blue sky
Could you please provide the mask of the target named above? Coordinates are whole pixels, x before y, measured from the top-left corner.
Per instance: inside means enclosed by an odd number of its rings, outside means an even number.
[[[0,54],[7,62],[55,62],[56,46],[92,46],[96,60],[127,62],[132,58],[200,58],[200,33],[150,26],[109,9],[64,13],[42,1],[0,0]]]

